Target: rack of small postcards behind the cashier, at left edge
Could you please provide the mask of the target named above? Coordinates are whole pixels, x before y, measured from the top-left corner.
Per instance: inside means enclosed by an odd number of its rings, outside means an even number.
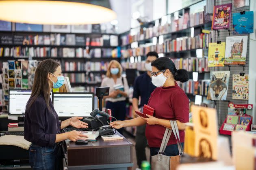
[[[3,62],[2,89],[3,111],[8,111],[9,89],[31,89],[35,77],[37,60],[8,60]]]

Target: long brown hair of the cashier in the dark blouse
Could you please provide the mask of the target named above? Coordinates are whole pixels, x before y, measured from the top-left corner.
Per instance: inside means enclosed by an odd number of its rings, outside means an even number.
[[[52,59],[43,60],[39,63],[37,69],[35,70],[32,93],[28,100],[26,109],[30,108],[38,96],[42,94],[44,100],[46,101],[46,106],[50,110],[50,87],[48,83],[48,73],[53,74],[58,66],[60,66],[60,64]]]

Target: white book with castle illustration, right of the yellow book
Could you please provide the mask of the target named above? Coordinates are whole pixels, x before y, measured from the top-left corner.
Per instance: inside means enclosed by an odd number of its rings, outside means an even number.
[[[227,36],[225,64],[245,64],[248,36]]]

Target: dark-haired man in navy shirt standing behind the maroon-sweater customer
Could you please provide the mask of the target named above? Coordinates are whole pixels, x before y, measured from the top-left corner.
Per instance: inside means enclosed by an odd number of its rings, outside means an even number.
[[[139,108],[143,108],[144,104],[148,104],[148,100],[150,98],[150,94],[154,91],[156,86],[154,86],[151,82],[151,62],[158,58],[158,54],[156,52],[149,52],[147,54],[147,59],[145,62],[145,68],[147,72],[141,74],[139,77],[135,79],[133,85],[133,97],[132,97],[132,106],[134,110],[138,111]],[[139,104],[140,97],[140,104]],[[143,110],[141,110],[143,111]],[[145,137],[145,128],[146,125],[137,127],[136,131],[136,156],[137,156],[137,164],[139,168],[141,168],[141,162],[143,160],[147,160],[145,147],[147,146],[147,139]]]

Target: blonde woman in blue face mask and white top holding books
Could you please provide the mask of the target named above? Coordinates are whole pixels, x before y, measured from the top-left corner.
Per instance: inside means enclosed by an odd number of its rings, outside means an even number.
[[[128,95],[129,86],[126,77],[121,77],[121,64],[112,60],[106,72],[106,78],[102,80],[101,87],[109,87],[109,95],[104,97],[106,108],[111,109],[112,116],[117,120],[124,120],[126,115],[126,96]],[[116,88],[120,85],[123,88]],[[122,129],[118,130],[122,133]]]

